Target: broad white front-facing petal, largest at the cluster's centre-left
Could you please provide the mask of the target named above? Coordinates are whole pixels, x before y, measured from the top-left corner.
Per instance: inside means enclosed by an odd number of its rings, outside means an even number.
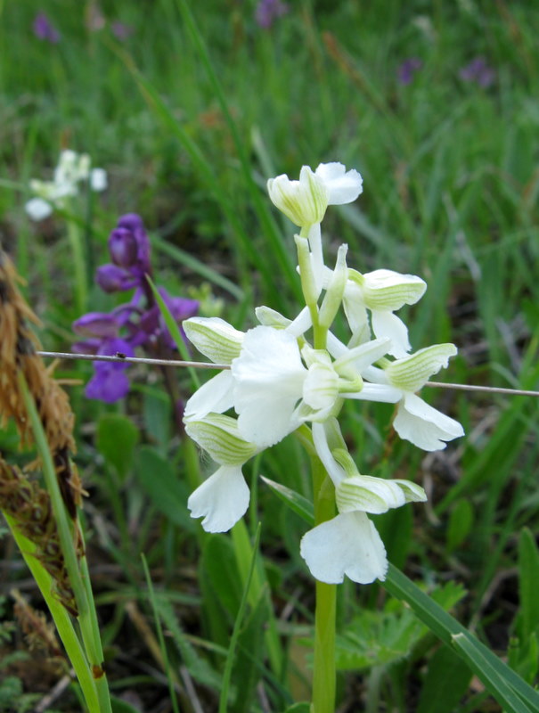
[[[232,373],[242,438],[265,448],[298,428],[294,409],[307,371],[295,337],[272,327],[249,330]]]

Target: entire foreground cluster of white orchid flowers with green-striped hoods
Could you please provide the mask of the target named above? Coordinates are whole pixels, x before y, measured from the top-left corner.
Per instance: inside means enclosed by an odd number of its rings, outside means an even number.
[[[220,466],[192,493],[188,506],[208,532],[232,528],[249,504],[243,464],[308,423],[339,514],[306,533],[301,554],[323,582],[341,582],[347,575],[367,584],[385,578],[388,568],[368,513],[426,496],[408,480],[361,475],[337,415],[347,398],[394,403],[393,425],[401,438],[427,451],[445,448],[445,441],[463,435],[461,424],[416,391],[447,366],[456,348],[436,344],[409,354],[408,330],[394,313],[421,299],[426,285],[419,277],[385,269],[362,275],[347,267],[346,245],[340,246],[333,270],[324,265],[321,221],[328,205],[355,201],[361,193],[356,171],[339,163],[321,164],[315,171],[304,167],[298,181],[278,176],[268,190],[277,208],[301,228],[295,240],[306,307],[294,320],[258,307],[260,325],[248,332],[217,317],[184,322],[203,355],[230,365],[185,406],[185,430]],[[347,344],[330,331],[340,307],[351,332]],[[313,344],[305,336],[311,330]],[[234,416],[225,415],[232,410]]]

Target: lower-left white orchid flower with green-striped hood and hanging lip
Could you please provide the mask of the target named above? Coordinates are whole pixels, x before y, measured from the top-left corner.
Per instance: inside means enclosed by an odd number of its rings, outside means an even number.
[[[257,454],[257,447],[241,438],[233,418],[222,414],[186,422],[185,430],[220,466],[192,493],[187,507],[193,518],[203,518],[207,532],[225,532],[249,506],[249,488],[241,466]]]

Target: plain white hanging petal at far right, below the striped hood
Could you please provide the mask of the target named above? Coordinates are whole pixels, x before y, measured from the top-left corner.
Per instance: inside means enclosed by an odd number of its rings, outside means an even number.
[[[440,413],[415,394],[404,395],[393,427],[401,438],[424,451],[442,450],[446,446],[444,441],[464,435],[458,421]]]

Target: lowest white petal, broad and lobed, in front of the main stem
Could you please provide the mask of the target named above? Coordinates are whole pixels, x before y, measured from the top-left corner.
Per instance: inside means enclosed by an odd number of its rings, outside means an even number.
[[[386,578],[388,560],[380,535],[364,512],[346,512],[304,535],[300,553],[321,582],[339,584],[347,575],[361,585]]]

